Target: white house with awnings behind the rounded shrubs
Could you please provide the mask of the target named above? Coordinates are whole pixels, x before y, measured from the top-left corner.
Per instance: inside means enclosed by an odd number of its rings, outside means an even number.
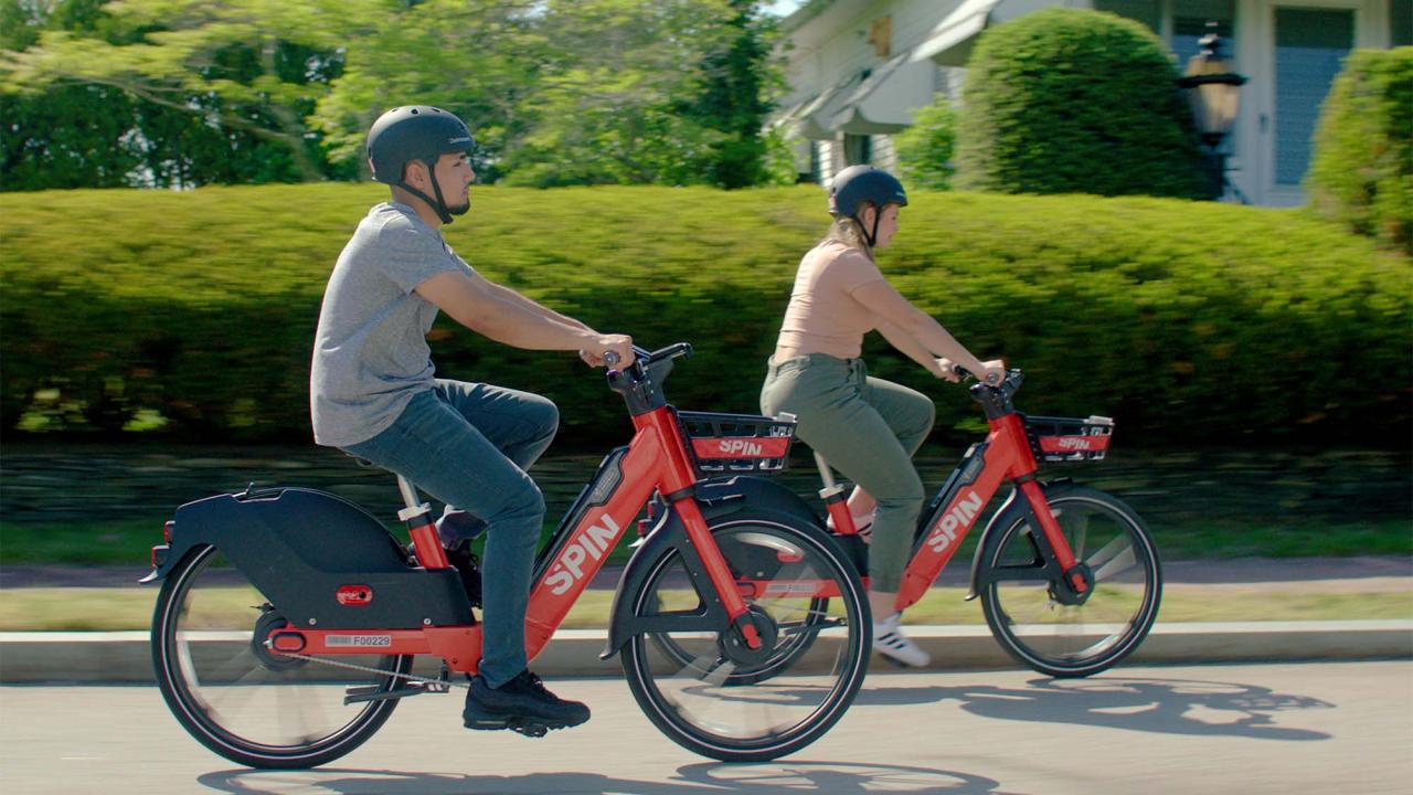
[[[1180,71],[1215,21],[1222,54],[1248,78],[1228,180],[1272,207],[1303,202],[1320,103],[1349,50],[1413,44],[1413,0],[811,0],[781,23],[790,93],[777,122],[797,140],[801,175],[894,166],[889,136],[934,92],[958,98],[976,37],[1050,6],[1137,20]]]

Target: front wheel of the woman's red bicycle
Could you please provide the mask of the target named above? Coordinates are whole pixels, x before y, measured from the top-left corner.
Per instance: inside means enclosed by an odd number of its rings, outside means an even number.
[[[1017,497],[1017,499],[1022,499]],[[982,549],[982,613],[996,641],[1019,662],[1050,676],[1089,676],[1133,652],[1157,617],[1163,577],[1143,521],[1115,497],[1091,488],[1046,489],[1046,501],[1087,564],[1094,588],[1072,604],[1061,583],[1037,576],[1043,557],[1029,513],[1017,512]]]

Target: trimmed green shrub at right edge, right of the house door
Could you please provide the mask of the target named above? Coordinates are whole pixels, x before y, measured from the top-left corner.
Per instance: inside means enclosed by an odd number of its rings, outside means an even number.
[[[1320,112],[1307,190],[1325,218],[1413,255],[1413,47],[1345,61]]]

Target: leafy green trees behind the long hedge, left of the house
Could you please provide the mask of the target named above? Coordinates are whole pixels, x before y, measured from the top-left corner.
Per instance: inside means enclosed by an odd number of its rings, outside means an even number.
[[[0,3],[6,190],[353,178],[408,102],[466,119],[483,180],[771,178],[755,0]]]

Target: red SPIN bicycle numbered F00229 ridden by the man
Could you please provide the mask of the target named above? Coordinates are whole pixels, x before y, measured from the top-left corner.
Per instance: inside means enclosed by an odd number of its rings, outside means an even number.
[[[750,475],[784,467],[793,422],[667,405],[663,382],[690,352],[639,351],[609,372],[634,436],[541,550],[526,651],[550,642],[651,501],[664,509],[623,571],[603,658],[622,652],[637,703],[682,747],[771,760],[853,700],[868,601],[810,508]],[[144,579],[162,581],[153,662],[177,720],[208,748],[252,767],[319,765],[372,737],[400,699],[462,687],[455,675],[476,671],[476,573],[448,566],[428,506],[398,481],[411,547],[356,505],[301,488],[211,497],[167,522]],[[439,661],[439,673],[414,658]]]

